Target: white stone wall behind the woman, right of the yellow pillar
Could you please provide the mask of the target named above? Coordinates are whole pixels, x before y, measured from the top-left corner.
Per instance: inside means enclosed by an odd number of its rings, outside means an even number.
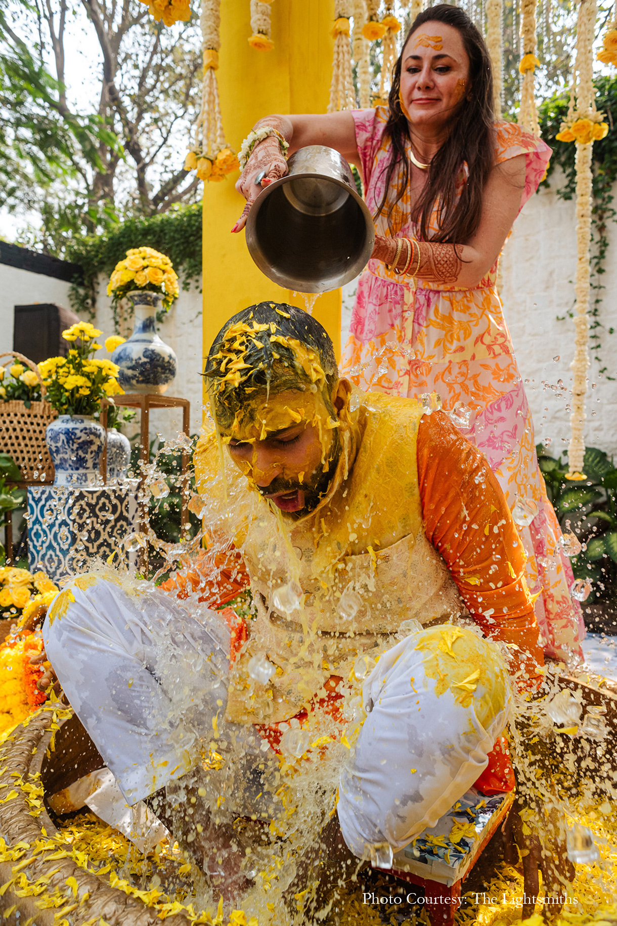
[[[555,192],[562,184],[561,171],[551,180],[550,189],[532,196],[514,223],[501,259],[501,298],[534,416],[536,443],[549,441],[549,453],[559,456],[570,439],[574,321],[567,313],[574,308],[576,207]],[[611,223],[609,238],[599,307],[602,364],[591,360],[586,444],[614,454],[617,462],[617,223]],[[349,332],[355,289],[355,281],[343,289],[341,344]],[[611,326],[614,334],[609,333]],[[599,373],[602,366],[607,368],[604,375]]]

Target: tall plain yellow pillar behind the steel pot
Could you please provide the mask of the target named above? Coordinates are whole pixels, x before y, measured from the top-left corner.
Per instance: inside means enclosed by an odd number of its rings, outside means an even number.
[[[334,0],[274,0],[271,9],[275,47],[258,52],[248,44],[249,0],[221,2],[216,77],[227,140],[236,151],[257,119],[269,113],[326,112]],[[230,233],[244,206],[234,188],[236,176],[204,183],[204,357],[216,333],[241,308],[265,299],[304,307],[302,296],[292,296],[255,266],[244,232]],[[339,356],[340,290],[319,296],[313,314]]]

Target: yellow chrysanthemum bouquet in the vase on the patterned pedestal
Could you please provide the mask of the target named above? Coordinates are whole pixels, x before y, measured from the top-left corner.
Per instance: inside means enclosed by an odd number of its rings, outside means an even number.
[[[100,334],[89,321],[79,321],[62,332],[66,341],[75,344],[67,357],[50,357],[39,364],[47,400],[61,415],[94,415],[104,395],[124,392],[117,382],[117,365],[93,357],[101,349],[96,344]]]

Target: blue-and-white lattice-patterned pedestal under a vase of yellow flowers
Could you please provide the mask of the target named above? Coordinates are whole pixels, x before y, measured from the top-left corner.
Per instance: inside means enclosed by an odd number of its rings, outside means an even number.
[[[56,582],[64,576],[93,569],[114,551],[129,563],[122,541],[139,530],[139,483],[97,489],[61,485],[28,487],[28,565],[43,569]]]

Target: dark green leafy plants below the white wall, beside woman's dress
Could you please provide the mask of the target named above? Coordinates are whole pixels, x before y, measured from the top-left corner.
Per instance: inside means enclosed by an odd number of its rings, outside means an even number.
[[[617,597],[617,469],[597,447],[585,452],[584,482],[565,478],[567,465],[537,444],[537,462],[564,533],[574,532],[583,549],[572,558],[574,577],[593,583],[587,604]]]

